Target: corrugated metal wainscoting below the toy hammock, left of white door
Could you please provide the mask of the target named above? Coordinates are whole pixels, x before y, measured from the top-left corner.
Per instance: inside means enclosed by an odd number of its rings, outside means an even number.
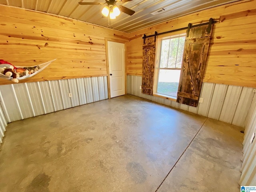
[[[71,98],[68,93],[72,94]],[[107,98],[106,76],[0,86],[0,101],[7,122]]]

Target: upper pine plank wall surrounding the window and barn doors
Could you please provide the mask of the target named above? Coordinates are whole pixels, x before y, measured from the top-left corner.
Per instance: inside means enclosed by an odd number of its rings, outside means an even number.
[[[256,0],[244,0],[182,16],[129,34],[127,74],[142,75],[142,35],[214,18],[203,82],[256,87]],[[175,32],[185,33],[186,31]]]

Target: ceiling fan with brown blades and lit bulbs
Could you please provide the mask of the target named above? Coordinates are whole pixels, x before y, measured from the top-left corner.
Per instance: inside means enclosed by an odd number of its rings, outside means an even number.
[[[132,0],[105,0],[105,3],[96,3],[96,2],[79,2],[80,5],[104,5],[108,4],[102,9],[102,14],[107,17],[109,16],[110,19],[115,19],[118,15],[120,15],[120,11],[128,14],[133,15],[135,13],[134,10],[131,10],[127,7],[122,5],[117,6],[116,3],[125,3]]]

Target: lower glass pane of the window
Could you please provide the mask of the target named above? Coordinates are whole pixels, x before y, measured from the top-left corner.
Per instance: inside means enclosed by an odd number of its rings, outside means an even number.
[[[180,70],[159,70],[157,92],[177,97]]]

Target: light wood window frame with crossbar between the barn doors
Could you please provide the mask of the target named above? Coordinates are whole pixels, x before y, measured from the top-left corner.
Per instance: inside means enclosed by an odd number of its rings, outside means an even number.
[[[180,70],[182,69],[182,66],[180,68],[160,68],[160,57],[161,57],[161,49],[162,49],[162,40],[171,39],[171,38],[178,38],[186,36],[186,32],[178,32],[176,34],[165,34],[163,36],[158,36],[157,42],[156,42],[156,62],[155,62],[155,71],[154,71],[154,86],[153,86],[153,96],[158,96],[161,98],[166,98],[172,101],[176,101],[177,97],[158,93],[157,92],[157,86],[158,86],[158,79],[159,79],[159,72],[161,69],[164,70]],[[176,56],[177,57],[177,56]],[[175,64],[176,66],[176,64]]]

